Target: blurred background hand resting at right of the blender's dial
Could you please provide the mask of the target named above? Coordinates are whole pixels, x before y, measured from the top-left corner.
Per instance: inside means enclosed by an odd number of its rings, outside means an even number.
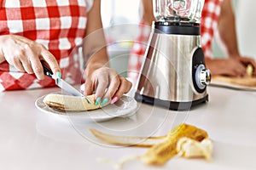
[[[247,65],[253,66],[253,75],[256,75],[256,63],[251,58],[206,59],[206,64],[213,77],[247,77]]]

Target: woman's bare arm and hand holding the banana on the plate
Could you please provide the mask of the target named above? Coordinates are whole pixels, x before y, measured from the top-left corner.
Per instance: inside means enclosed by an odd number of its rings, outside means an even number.
[[[88,14],[84,54],[90,56],[85,69],[84,94],[96,91],[96,105],[113,104],[129,92],[131,82],[109,68],[107,42],[102,29],[101,0],[94,1]]]

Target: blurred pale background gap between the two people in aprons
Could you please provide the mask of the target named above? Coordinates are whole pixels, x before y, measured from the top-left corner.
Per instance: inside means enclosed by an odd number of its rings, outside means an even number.
[[[124,77],[131,40],[139,33],[139,3],[139,0],[102,0],[102,24],[109,42],[110,65]]]

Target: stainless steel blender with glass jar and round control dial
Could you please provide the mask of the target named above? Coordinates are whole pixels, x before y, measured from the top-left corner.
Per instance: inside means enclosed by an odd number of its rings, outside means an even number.
[[[154,17],[135,99],[175,111],[208,101],[201,48],[204,0],[153,0]]]

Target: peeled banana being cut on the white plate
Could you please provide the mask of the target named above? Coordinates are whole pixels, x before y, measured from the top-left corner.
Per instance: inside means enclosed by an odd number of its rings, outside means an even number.
[[[102,107],[101,105],[95,105],[95,94],[87,97],[93,102],[92,104],[89,104],[83,97],[65,94],[48,94],[43,101],[57,111],[90,111]]]

